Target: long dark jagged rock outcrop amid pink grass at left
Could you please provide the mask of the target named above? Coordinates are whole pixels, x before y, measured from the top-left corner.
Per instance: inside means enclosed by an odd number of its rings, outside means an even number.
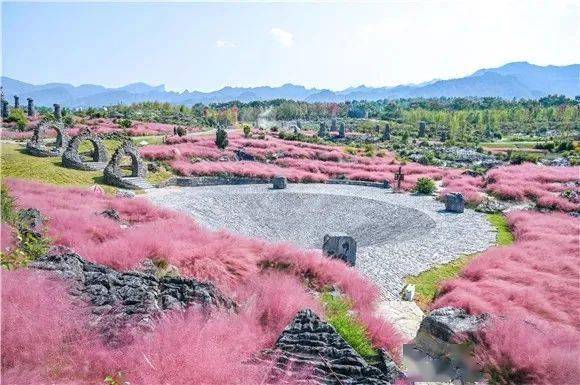
[[[30,267],[65,278],[70,283],[70,294],[91,305],[95,326],[112,344],[122,330],[151,327],[166,310],[236,309],[236,304],[211,283],[141,271],[120,272],[63,248],[53,249]]]

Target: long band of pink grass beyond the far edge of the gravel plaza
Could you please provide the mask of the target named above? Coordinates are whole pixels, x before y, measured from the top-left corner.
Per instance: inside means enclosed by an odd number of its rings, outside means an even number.
[[[243,150],[255,161],[238,162],[235,152]],[[371,182],[388,180],[403,166],[405,180],[401,188],[411,191],[419,178],[441,181],[440,195],[460,192],[467,202],[481,203],[486,194],[516,201],[532,200],[539,207],[562,211],[578,211],[580,203],[560,196],[566,183],[580,182],[580,167],[546,167],[533,164],[505,166],[490,171],[485,177],[470,176],[463,170],[425,166],[417,163],[402,165],[392,154],[382,157],[350,155],[343,148],[281,140],[246,139],[230,134],[230,144],[220,150],[213,136],[170,136],[165,144],[145,146],[141,155],[149,160],[165,160],[182,176],[234,175],[271,178],[284,175],[292,182],[324,182],[345,178]],[[219,160],[219,161],[218,161]]]

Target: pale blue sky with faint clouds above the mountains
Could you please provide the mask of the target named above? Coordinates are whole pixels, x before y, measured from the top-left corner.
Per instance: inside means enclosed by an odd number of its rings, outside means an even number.
[[[2,74],[40,84],[344,89],[580,62],[577,1],[2,3]]]

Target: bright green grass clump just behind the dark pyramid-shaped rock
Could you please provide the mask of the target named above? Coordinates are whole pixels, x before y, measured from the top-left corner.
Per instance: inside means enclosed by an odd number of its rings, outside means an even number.
[[[352,304],[344,297],[329,292],[322,294],[327,321],[367,362],[378,362],[378,353],[364,325],[350,312]]]

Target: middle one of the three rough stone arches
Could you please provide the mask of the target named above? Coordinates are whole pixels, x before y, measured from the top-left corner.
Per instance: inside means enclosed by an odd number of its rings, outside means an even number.
[[[93,145],[93,161],[85,162],[79,154],[79,146],[88,140]],[[88,128],[83,129],[77,136],[68,142],[66,150],[62,153],[62,164],[68,168],[78,170],[96,171],[105,168],[105,163],[109,160],[109,154],[103,141]]]

